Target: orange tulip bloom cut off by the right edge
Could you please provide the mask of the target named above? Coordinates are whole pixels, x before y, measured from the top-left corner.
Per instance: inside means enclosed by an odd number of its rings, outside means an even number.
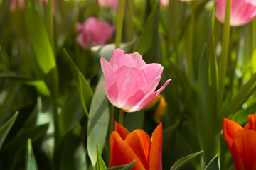
[[[256,114],[248,118],[244,128],[223,118],[223,135],[237,170],[256,169]]]

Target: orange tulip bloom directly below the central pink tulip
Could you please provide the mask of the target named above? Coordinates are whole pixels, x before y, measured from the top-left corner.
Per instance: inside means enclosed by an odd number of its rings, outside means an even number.
[[[118,123],[110,135],[110,167],[129,164],[135,160],[132,170],[161,170],[163,128],[160,123],[151,139],[143,130],[129,132]]]

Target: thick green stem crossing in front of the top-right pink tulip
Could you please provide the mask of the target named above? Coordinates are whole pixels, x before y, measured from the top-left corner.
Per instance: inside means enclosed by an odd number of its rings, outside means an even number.
[[[225,76],[227,73],[227,62],[228,62],[228,47],[230,40],[230,11],[231,11],[231,0],[226,1],[225,9],[225,23],[224,23],[224,32],[223,32],[223,43],[222,43],[222,52],[220,54],[220,59],[218,62],[219,69],[219,102],[222,103],[224,95],[224,86],[225,86]],[[219,105],[220,106],[220,105]]]

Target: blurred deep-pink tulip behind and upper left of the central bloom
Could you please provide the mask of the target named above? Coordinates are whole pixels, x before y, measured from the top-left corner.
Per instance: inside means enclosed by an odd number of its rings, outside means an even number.
[[[76,23],[75,28],[80,32],[77,36],[78,44],[84,49],[90,49],[94,45],[105,45],[115,30],[115,26],[100,22],[95,17],[87,18],[84,23]]]

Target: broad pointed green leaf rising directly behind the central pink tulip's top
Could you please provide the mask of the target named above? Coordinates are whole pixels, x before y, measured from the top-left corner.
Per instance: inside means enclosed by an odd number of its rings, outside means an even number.
[[[151,11],[149,18],[147,18],[142,35],[137,41],[134,52],[139,52],[144,56],[144,60],[148,63],[159,62],[157,56],[159,55],[159,2],[157,2]]]

